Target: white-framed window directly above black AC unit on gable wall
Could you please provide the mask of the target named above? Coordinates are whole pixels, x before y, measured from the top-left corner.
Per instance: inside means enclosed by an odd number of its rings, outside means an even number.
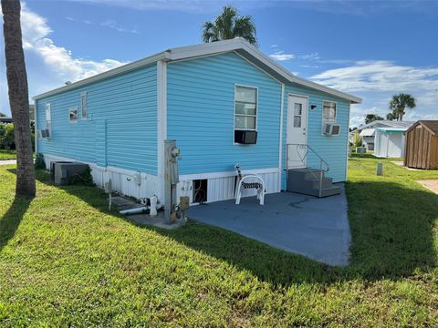
[[[235,129],[255,130],[257,88],[235,86]]]

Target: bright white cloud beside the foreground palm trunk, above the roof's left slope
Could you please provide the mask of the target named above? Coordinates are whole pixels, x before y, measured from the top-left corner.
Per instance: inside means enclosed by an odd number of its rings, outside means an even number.
[[[66,47],[57,46],[49,37],[52,29],[48,26],[47,20],[32,12],[26,4],[22,4],[21,8],[21,26],[30,97],[54,87],[61,87],[67,80],[77,81],[124,64],[114,59],[95,61],[73,56]],[[3,40],[0,43],[3,43]],[[1,56],[4,56],[3,48],[4,46],[0,45]],[[29,63],[32,63],[32,67]],[[3,87],[6,86],[5,74],[0,78],[0,106],[2,111],[9,113],[9,110],[6,110],[9,108],[7,88]]]

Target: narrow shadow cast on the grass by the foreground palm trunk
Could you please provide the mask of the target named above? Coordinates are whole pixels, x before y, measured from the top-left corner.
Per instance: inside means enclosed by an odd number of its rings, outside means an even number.
[[[3,217],[0,218],[0,252],[7,242],[15,236],[32,200],[32,198],[27,197],[16,197]]]

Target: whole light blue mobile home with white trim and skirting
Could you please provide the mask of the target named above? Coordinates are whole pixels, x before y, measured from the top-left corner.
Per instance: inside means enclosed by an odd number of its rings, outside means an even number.
[[[289,73],[241,38],[171,48],[34,99],[47,168],[87,163],[99,186],[111,179],[123,194],[163,201],[164,140],[174,139],[178,195],[193,201],[203,181],[207,202],[234,197],[236,163],[268,193],[286,188],[286,169],[319,167],[318,156],[333,181],[346,180],[349,108],[361,101]]]

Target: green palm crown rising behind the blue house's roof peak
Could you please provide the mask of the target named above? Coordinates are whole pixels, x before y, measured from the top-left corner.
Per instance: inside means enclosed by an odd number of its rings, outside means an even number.
[[[203,23],[203,42],[243,37],[251,45],[257,46],[255,37],[255,24],[250,15],[241,16],[232,5],[226,5],[221,15],[214,18],[213,22]]]

